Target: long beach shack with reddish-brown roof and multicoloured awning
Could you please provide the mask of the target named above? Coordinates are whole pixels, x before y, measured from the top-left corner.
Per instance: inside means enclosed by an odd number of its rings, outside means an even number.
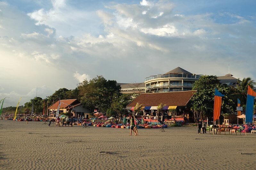
[[[182,92],[162,92],[162,93],[142,93],[131,101],[126,109],[127,114],[133,113],[137,119],[151,124],[158,122],[192,122],[194,115],[188,108],[188,103],[193,97],[194,91]],[[142,110],[134,113],[136,104],[142,104]],[[164,104],[162,111],[158,113],[157,107],[159,104]]]

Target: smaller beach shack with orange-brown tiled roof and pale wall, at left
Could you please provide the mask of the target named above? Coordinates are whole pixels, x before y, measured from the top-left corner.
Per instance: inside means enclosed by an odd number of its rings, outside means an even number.
[[[58,106],[60,104],[59,115],[68,113],[73,117],[85,117],[88,118],[90,110],[82,107],[81,103],[77,99],[69,99],[69,100],[59,100],[55,102],[53,105],[48,107],[50,116],[55,117]]]

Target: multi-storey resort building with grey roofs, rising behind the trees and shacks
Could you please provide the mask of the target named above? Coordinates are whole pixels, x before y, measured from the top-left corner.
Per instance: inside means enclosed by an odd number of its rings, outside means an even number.
[[[202,75],[193,74],[187,70],[177,67],[165,74],[157,74],[146,78],[142,83],[118,83],[121,86],[121,92],[131,93],[154,93],[154,92],[179,92],[192,90],[196,80]],[[236,87],[237,78],[232,74],[217,77],[219,82],[227,86]]]

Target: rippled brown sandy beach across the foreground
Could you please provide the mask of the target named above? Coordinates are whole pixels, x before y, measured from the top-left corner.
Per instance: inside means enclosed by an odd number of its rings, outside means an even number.
[[[197,134],[197,127],[55,127],[0,120],[0,169],[255,169],[256,134]],[[209,133],[209,132],[208,132]]]

